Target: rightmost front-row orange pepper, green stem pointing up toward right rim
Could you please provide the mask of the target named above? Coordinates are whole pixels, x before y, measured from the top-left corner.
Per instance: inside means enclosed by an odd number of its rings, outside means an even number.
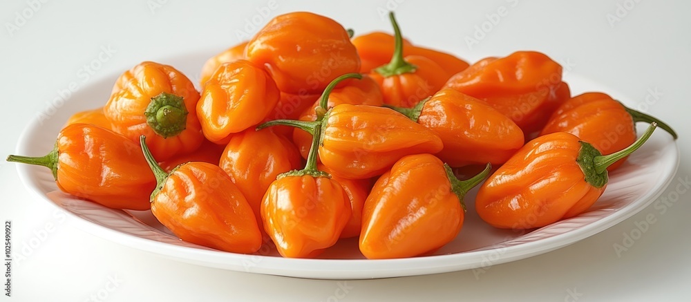
[[[641,147],[656,126],[652,122],[634,144],[610,155],[571,133],[531,140],[480,187],[475,210],[502,229],[544,227],[581,214],[605,191],[607,167]]]

